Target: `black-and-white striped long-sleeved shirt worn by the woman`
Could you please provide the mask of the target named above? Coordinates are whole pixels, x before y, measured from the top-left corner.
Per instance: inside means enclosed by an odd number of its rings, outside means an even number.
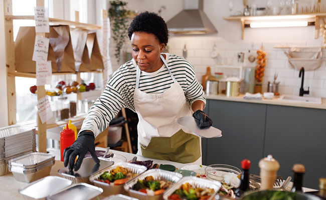
[[[206,104],[203,87],[195,76],[195,68],[185,58],[166,53],[169,69],[184,90],[187,102],[196,100]],[[117,69],[109,78],[105,89],[90,107],[81,130],[91,130],[98,135],[122,107],[135,111],[133,94],[136,85],[136,65],[130,60]],[[171,87],[173,79],[163,64],[154,72],[141,71],[139,89],[145,93],[162,93]]]

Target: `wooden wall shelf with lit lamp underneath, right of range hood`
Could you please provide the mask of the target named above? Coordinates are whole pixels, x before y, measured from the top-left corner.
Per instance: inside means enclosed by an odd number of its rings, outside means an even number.
[[[244,38],[244,28],[252,21],[284,21],[284,20],[300,20],[304,19],[308,22],[314,22],[315,33],[314,38],[318,38],[319,32],[319,18],[326,17],[326,12],[317,13],[302,13],[302,14],[290,14],[290,15],[264,15],[264,16],[229,16],[223,17],[224,20],[238,20],[241,22],[241,39]]]

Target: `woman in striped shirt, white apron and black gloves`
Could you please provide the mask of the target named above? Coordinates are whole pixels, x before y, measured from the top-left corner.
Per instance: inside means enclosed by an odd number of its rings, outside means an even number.
[[[78,170],[87,151],[99,162],[94,134],[103,131],[122,107],[135,111],[139,118],[137,154],[201,164],[200,138],[175,122],[193,114],[200,128],[212,125],[202,111],[206,98],[194,67],[181,56],[162,53],[168,43],[168,28],[155,13],[137,15],[128,36],[133,59],[113,73],[90,108],[77,140],[64,150],[65,166],[69,161],[69,169]]]

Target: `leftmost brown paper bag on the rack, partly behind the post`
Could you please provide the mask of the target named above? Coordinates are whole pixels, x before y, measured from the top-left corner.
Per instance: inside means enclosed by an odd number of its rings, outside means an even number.
[[[36,61],[32,60],[35,44],[35,26],[21,26],[15,41],[16,70],[19,72],[36,73]],[[57,72],[57,63],[53,48],[48,51],[52,72]]]

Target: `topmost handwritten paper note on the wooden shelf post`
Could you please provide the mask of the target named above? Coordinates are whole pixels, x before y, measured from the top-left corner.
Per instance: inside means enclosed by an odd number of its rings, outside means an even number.
[[[49,11],[44,6],[34,7],[35,31],[49,32]]]

